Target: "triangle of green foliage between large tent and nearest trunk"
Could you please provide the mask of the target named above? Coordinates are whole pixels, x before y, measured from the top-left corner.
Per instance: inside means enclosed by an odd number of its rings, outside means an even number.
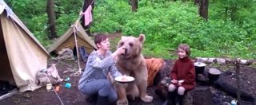
[[[49,45],[48,37],[45,34],[47,28],[46,1],[10,0],[6,3],[42,45]]]

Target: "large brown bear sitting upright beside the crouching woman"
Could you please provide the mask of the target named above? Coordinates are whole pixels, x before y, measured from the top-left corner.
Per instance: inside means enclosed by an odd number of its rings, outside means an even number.
[[[126,95],[131,95],[133,98],[139,96],[146,103],[153,100],[153,97],[146,93],[148,72],[142,55],[144,41],[145,35],[140,34],[138,38],[122,37],[118,42],[118,48],[124,48],[125,53],[116,58],[116,66],[122,75],[134,77],[134,81],[128,84],[115,84],[118,91],[118,105],[128,105]]]

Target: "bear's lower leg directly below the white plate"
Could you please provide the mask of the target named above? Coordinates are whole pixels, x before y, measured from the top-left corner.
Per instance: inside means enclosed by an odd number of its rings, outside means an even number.
[[[124,84],[116,84],[115,86],[118,92],[117,105],[128,105],[128,99],[126,97],[126,86]]]

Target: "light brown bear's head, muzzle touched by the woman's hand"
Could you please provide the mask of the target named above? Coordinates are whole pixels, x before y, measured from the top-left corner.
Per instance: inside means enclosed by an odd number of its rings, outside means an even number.
[[[140,34],[139,37],[122,37],[118,42],[118,48],[123,47],[125,49],[125,53],[119,57],[122,57],[123,59],[133,59],[140,56],[144,41],[144,34]]]

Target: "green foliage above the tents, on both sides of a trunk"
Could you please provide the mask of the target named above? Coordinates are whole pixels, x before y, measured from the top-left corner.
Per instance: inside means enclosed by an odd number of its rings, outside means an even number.
[[[82,9],[83,0],[57,0],[55,1],[56,27],[58,36],[69,29],[70,25],[77,20],[79,11]],[[34,36],[42,45],[50,45],[47,37],[47,14],[46,1],[42,0],[9,0],[6,2],[14,13],[18,15],[26,27],[30,29]]]

